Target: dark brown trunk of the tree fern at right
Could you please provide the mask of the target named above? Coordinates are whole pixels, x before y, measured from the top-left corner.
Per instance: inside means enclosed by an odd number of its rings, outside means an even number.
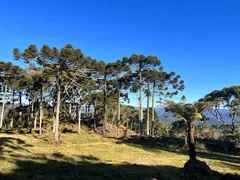
[[[187,122],[188,125],[188,146],[189,146],[189,156],[190,160],[195,161],[196,158],[196,148],[194,142],[194,122]]]

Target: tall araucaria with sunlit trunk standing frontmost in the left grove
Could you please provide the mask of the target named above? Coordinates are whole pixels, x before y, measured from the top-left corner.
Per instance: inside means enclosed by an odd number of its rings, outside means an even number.
[[[30,65],[30,68],[44,68],[46,76],[54,79],[54,85],[57,89],[56,96],[56,116],[55,116],[55,143],[59,143],[59,116],[61,107],[61,94],[67,88],[70,88],[78,78],[82,78],[88,72],[88,59],[84,58],[80,49],[73,48],[68,44],[58,50],[56,47],[50,48],[43,45],[38,51],[36,45],[30,45],[24,52],[19,49],[13,50],[16,60],[23,60]]]

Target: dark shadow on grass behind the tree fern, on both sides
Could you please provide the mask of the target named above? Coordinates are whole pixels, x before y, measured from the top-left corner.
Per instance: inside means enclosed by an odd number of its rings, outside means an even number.
[[[119,139],[117,143],[125,143],[130,146],[139,147],[150,151],[165,150],[169,152],[175,152],[177,154],[188,155],[188,149],[184,147],[184,140],[181,138],[136,137],[129,139]],[[234,144],[230,142],[219,140],[197,140],[197,143],[203,143],[204,147],[206,148],[205,150],[207,150],[207,152],[197,150],[198,157],[240,164],[240,156],[238,156],[239,151],[234,147]],[[225,146],[225,150],[221,148],[222,146]],[[229,149],[232,149],[232,151],[226,151]]]

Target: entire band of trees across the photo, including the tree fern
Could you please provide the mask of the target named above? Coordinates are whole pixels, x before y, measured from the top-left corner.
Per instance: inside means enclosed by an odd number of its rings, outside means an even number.
[[[146,136],[169,134],[175,128],[175,132],[179,130],[185,136],[191,164],[197,162],[195,122],[207,121],[205,112],[208,111],[237,144],[240,86],[213,91],[193,104],[187,104],[184,96],[180,103],[166,101],[165,111],[180,120],[171,127],[159,123],[155,101],[159,97],[172,98],[183,91],[184,81],[175,72],[164,71],[156,56],[133,54],[105,63],[84,56],[70,44],[61,49],[43,45],[40,50],[30,45],[23,52],[15,48],[13,55],[26,68],[0,62],[0,129],[28,127],[42,134],[42,127],[48,122],[55,143],[59,143],[60,122],[78,123],[80,133],[84,120],[93,130],[101,127],[103,135],[107,123],[118,128],[124,125]],[[138,110],[123,105],[123,101],[130,101],[129,93],[138,92]],[[143,96],[147,98],[146,109]],[[22,103],[22,98],[28,104]],[[229,110],[231,124],[224,120],[221,108]]]

